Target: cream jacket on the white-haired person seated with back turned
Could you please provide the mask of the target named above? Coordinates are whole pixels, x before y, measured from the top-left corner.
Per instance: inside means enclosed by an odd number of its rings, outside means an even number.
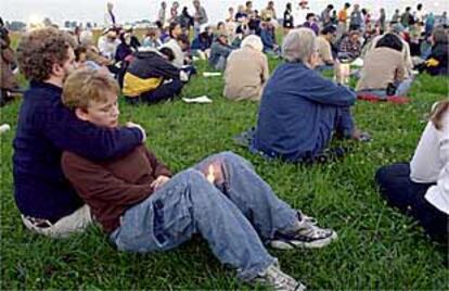
[[[265,54],[249,47],[235,50],[228,58],[223,94],[232,100],[260,100],[268,74]]]

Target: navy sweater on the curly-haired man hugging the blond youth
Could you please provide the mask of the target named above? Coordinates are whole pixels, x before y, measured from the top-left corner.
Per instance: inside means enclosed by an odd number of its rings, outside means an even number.
[[[62,89],[31,83],[14,139],[15,201],[24,215],[57,220],[84,203],[64,177],[63,151],[94,161],[121,156],[141,143],[136,128],[105,129],[78,119],[61,102]]]

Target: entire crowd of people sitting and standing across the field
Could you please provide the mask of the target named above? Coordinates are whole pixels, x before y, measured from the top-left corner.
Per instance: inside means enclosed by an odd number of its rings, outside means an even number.
[[[169,11],[162,2],[142,39],[119,26],[112,3],[97,43],[92,31],[81,29],[47,27],[22,37],[16,56],[29,88],[13,143],[22,220],[54,238],[84,231],[95,220],[118,250],[140,253],[167,251],[200,233],[241,279],[304,290],[266,246],[321,248],[336,232],[280,200],[252,164],[232,152],[171,173],[144,146],[140,125],[118,124],[118,98],[129,104],[172,99],[195,76],[196,60],[207,60],[223,72],[226,98],[260,102],[256,127],[243,136],[251,152],[269,161],[324,163],[345,155],[345,149],[330,148],[333,138],[371,140],[351,114],[358,94],[406,96],[421,72],[448,75],[446,14],[436,23],[419,4],[415,12],[396,11],[390,22],[381,9],[374,21],[358,4],[345,3],[338,12],[329,4],[316,14],[300,0],[288,3],[281,20],[273,1],[260,13],[247,1],[211,26],[201,2],[193,7],[190,15],[187,8],[178,13],[176,1]],[[278,33],[284,35],[280,45]],[[14,51],[3,39],[1,65],[12,71],[14,58],[3,54]],[[271,75],[269,58],[282,59]],[[346,63],[359,59],[356,90],[321,74],[342,74]],[[17,87],[4,84],[2,94]],[[384,166],[375,177],[390,205],[442,243],[449,215],[448,110],[447,100],[434,106],[410,164]]]

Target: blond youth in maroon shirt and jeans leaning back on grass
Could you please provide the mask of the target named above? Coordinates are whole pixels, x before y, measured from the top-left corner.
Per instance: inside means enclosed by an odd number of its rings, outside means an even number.
[[[84,122],[119,130],[118,93],[115,80],[84,69],[66,80],[63,103]],[[232,152],[209,156],[175,176],[144,146],[100,163],[66,151],[62,167],[120,251],[167,251],[198,233],[240,278],[302,290],[264,243],[320,248],[336,238],[277,198],[252,164]]]

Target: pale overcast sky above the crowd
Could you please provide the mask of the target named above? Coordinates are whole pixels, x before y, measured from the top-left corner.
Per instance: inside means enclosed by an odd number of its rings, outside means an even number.
[[[333,3],[334,7],[339,7],[348,0],[315,0],[309,1],[310,8],[313,12],[321,12],[328,3]],[[97,22],[100,25],[103,24],[103,16],[106,7],[105,0],[1,0],[0,1],[0,16],[4,21],[20,20],[27,22],[31,15],[43,18],[50,17],[54,23],[62,24],[65,20],[78,21],[78,22]],[[133,22],[138,20],[154,21],[157,14],[157,10],[161,1],[155,0],[112,0],[115,5],[115,14],[118,22]],[[167,3],[171,3],[171,0],[167,0]],[[179,0],[182,5],[189,7],[192,10],[191,0]],[[224,18],[228,7],[236,7],[240,3],[244,3],[245,0],[202,0],[203,5],[206,8],[209,20],[216,23],[219,20]],[[254,0],[256,9],[261,9],[266,5],[268,0]],[[275,8],[278,14],[282,14],[286,2],[296,2],[290,0],[275,0]],[[377,11],[381,7],[387,9],[387,17],[389,18],[395,8],[403,9],[406,5],[415,8],[418,1],[396,1],[396,0],[359,0],[349,2],[358,2],[362,7],[368,8],[377,15]],[[448,0],[422,0],[424,9],[426,11],[433,11],[440,13],[441,11],[449,10]],[[36,17],[35,16],[35,17]]]

